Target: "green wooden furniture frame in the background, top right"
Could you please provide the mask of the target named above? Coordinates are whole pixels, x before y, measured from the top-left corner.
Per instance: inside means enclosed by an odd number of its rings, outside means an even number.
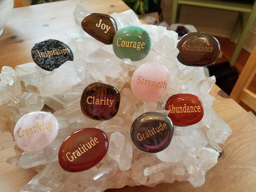
[[[238,39],[235,50],[230,59],[230,65],[235,65],[237,57],[243,47],[246,37],[251,29],[251,26],[256,17],[256,3],[255,1],[218,1],[218,0],[172,0],[171,9],[171,24],[177,22],[178,13],[180,10],[180,5],[191,5],[198,7],[208,7],[213,9],[229,10],[239,12],[235,27],[230,36],[230,41],[234,42],[237,35],[237,30],[239,30],[239,25],[242,25],[242,32]],[[247,17],[243,17],[247,13]],[[242,24],[241,24],[242,22]]]

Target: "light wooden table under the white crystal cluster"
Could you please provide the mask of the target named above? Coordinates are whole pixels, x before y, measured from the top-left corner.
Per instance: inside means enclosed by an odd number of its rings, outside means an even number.
[[[12,17],[0,37],[0,66],[16,66],[33,62],[31,47],[42,39],[64,39],[59,31],[75,26],[73,11],[81,3],[90,12],[111,14],[123,12],[127,7],[121,0],[86,0],[47,3],[13,10]],[[256,120],[236,102],[227,97],[218,86],[211,94],[216,98],[213,108],[229,124],[233,134],[222,145],[223,154],[217,165],[205,175],[205,184],[194,188],[189,182],[161,183],[155,187],[125,187],[109,189],[108,192],[128,191],[255,191],[256,189]],[[3,129],[3,125],[1,130]],[[15,155],[10,133],[0,134],[0,188],[2,192],[19,191],[34,177],[36,172],[7,164],[7,158]]]

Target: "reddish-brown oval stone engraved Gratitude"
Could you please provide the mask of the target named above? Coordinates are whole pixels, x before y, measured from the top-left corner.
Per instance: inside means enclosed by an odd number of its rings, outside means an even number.
[[[59,164],[69,172],[90,169],[108,151],[107,135],[96,128],[85,128],[70,134],[59,150]]]

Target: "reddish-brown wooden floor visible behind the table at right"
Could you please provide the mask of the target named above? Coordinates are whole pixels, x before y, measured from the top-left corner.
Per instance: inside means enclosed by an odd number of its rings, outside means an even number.
[[[220,42],[220,47],[221,47],[221,52],[222,52],[222,57],[218,58],[216,63],[229,61],[231,58],[231,55],[235,49],[236,44],[230,43],[228,38],[223,38],[223,37],[216,37],[216,38]],[[245,51],[244,49],[242,49],[242,51],[240,52],[240,54],[236,60],[236,63],[235,63],[235,67],[237,68],[239,73],[241,73],[241,71],[243,70],[243,67],[244,67],[246,61],[248,60],[249,56],[250,56],[250,53]],[[256,76],[253,78],[253,80],[249,86],[249,90],[256,93]],[[250,107],[246,106],[244,103],[239,103],[239,104],[245,110],[252,111],[252,109]],[[254,114],[256,114],[255,111],[254,111]]]

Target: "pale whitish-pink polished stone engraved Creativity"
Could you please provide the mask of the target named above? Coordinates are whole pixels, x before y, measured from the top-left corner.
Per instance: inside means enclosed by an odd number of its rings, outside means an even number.
[[[17,146],[25,151],[37,151],[50,145],[59,131],[57,119],[44,111],[23,115],[13,131]]]

